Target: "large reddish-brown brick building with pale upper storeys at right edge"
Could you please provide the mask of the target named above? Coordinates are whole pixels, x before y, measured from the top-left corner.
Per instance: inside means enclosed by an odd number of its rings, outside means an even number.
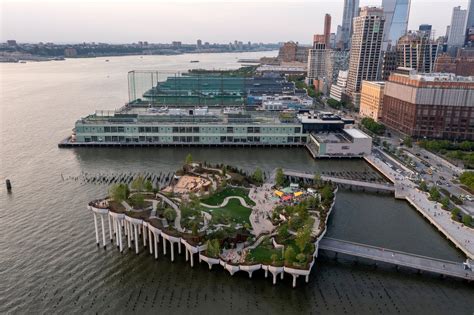
[[[384,93],[388,127],[415,138],[474,140],[474,77],[399,69]]]

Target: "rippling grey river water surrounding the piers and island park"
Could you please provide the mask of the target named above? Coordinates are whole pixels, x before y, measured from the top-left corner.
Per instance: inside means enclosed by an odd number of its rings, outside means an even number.
[[[0,313],[420,313],[472,314],[469,284],[334,261],[322,254],[310,283],[263,273],[193,269],[179,257],[155,261],[98,249],[86,204],[107,187],[63,181],[87,173],[171,172],[195,160],[267,171],[369,170],[362,161],[314,161],[303,149],[58,149],[74,121],[126,102],[128,71],[235,68],[239,58],[275,52],[71,59],[0,65]],[[190,64],[190,60],[200,60]],[[4,181],[11,179],[7,194]],[[328,236],[461,261],[462,254],[405,202],[340,191]]]

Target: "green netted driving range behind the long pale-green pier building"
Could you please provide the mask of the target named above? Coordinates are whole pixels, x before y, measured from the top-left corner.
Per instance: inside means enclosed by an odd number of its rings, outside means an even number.
[[[295,84],[280,77],[229,76],[220,72],[169,73],[130,71],[132,105],[240,106],[249,95],[295,93]]]

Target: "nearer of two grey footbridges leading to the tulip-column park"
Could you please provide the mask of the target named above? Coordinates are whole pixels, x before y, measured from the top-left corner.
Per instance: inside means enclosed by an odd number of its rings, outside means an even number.
[[[364,245],[325,237],[319,242],[319,249],[367,258],[374,261],[414,268],[454,278],[474,280],[474,272],[465,269],[463,263],[430,258],[405,252]]]

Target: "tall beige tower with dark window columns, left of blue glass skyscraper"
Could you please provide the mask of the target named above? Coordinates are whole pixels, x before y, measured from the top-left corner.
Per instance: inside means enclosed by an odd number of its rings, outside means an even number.
[[[376,81],[384,33],[383,10],[375,7],[361,9],[354,18],[347,93],[358,106],[362,80]]]

